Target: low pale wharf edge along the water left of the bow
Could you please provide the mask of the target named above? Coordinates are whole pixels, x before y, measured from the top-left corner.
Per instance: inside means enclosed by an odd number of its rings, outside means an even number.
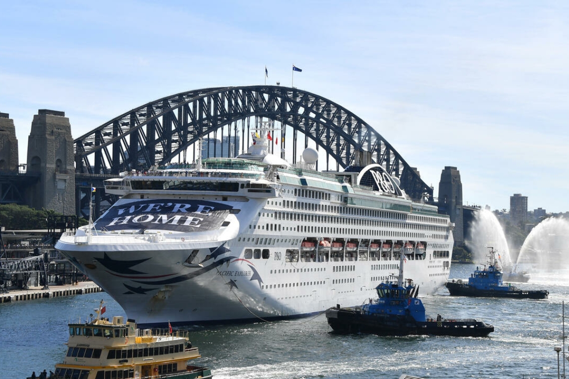
[[[10,290],[0,294],[0,303],[13,301],[35,300],[50,297],[73,296],[88,293],[102,292],[103,290],[91,281],[78,282],[77,284],[51,285],[44,289],[43,286],[31,286],[29,289]]]

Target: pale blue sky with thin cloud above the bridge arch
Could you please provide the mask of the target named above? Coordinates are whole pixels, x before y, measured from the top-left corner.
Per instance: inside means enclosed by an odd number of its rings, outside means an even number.
[[[569,3],[3,1],[0,112],[26,161],[38,109],[73,136],[213,86],[294,85],[374,127],[464,202],[569,211]]]

